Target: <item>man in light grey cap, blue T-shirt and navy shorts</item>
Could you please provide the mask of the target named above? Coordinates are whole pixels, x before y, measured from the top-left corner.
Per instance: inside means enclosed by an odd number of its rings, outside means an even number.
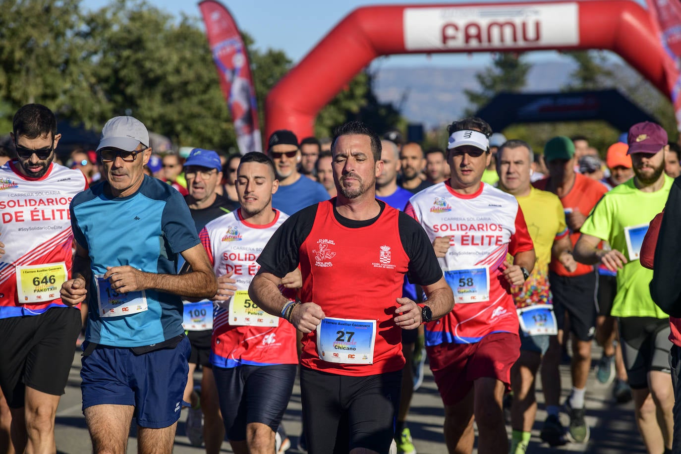
[[[148,143],[136,118],[109,120],[97,146],[104,181],[70,207],[76,255],[61,297],[91,295],[80,376],[96,453],[125,453],[133,415],[140,453],[172,452],[190,351],[179,295],[217,292],[185,200],[144,174]],[[180,254],[187,274],[177,274]]]

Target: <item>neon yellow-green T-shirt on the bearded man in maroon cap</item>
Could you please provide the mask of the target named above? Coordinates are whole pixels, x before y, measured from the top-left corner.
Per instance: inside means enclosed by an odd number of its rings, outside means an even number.
[[[619,250],[627,257],[628,263],[617,272],[617,295],[610,314],[614,317],[666,319],[667,314],[650,297],[648,285],[652,270],[641,265],[638,253],[648,223],[665,208],[674,180],[665,176],[663,188],[654,193],[639,191],[634,180],[631,178],[603,195],[580,231],[606,240],[613,250]]]

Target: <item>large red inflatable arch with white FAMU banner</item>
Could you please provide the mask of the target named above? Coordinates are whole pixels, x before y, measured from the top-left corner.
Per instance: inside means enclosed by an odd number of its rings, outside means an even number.
[[[634,1],[370,6],[341,20],[270,91],[266,133],[313,135],[317,112],[377,56],[552,49],[612,50],[669,95],[663,48]]]

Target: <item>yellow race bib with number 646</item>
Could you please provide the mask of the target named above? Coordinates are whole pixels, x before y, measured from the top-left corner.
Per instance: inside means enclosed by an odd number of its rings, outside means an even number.
[[[59,289],[67,277],[66,263],[63,261],[16,267],[19,303],[46,303],[59,298]]]

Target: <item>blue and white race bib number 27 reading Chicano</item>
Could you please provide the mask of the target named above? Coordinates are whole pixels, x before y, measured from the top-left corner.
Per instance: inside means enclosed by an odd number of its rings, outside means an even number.
[[[326,317],[317,325],[317,354],[330,363],[373,364],[375,320]]]

